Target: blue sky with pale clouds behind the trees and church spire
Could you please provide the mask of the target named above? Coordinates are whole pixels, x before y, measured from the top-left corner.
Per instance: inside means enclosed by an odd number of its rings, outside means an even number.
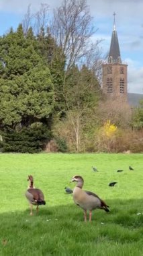
[[[62,0],[0,0],[0,36],[17,28],[23,20],[28,5],[32,12],[38,11],[40,3],[47,3],[50,11]],[[143,0],[87,0],[97,32],[93,40],[102,39],[103,53],[109,51],[115,28],[120,44],[122,62],[128,64],[128,92],[143,94]]]

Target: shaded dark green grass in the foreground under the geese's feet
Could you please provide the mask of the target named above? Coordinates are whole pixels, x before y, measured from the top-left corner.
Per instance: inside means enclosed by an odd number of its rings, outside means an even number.
[[[142,244],[142,199],[106,199],[110,212],[95,210],[92,221],[83,221],[83,210],[77,205],[42,205],[39,213],[30,216],[30,209],[0,214],[0,255],[84,255],[85,245],[96,250],[112,243],[133,248]],[[77,247],[81,253],[77,254]],[[59,253],[60,250],[60,253]],[[70,253],[71,254],[70,254]],[[102,254],[99,254],[102,255]],[[103,254],[104,255],[104,254]],[[111,254],[108,254],[111,255]],[[113,253],[112,255],[115,255]],[[133,254],[132,254],[133,255]],[[139,253],[134,255],[140,255]]]

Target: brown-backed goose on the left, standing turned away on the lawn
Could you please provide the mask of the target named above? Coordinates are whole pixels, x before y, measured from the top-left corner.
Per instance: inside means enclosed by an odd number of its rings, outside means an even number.
[[[40,189],[36,189],[34,187],[34,178],[32,175],[28,176],[28,181],[30,181],[30,186],[28,187],[28,190],[26,191],[26,198],[30,202],[30,215],[33,215],[32,212],[32,205],[37,205],[36,212],[38,213],[38,207],[39,205],[46,204],[46,201],[44,201],[44,194]]]

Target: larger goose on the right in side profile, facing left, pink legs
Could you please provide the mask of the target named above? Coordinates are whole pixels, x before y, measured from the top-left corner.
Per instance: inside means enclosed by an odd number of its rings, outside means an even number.
[[[85,222],[87,221],[87,210],[89,210],[89,221],[91,221],[92,210],[96,208],[109,212],[108,205],[93,192],[84,191],[83,178],[79,175],[74,176],[70,182],[77,182],[77,186],[73,189],[73,199],[77,205],[84,210]]]

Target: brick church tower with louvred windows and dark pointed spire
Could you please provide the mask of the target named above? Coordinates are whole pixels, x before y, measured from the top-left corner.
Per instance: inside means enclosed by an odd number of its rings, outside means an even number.
[[[127,101],[127,67],[122,63],[120,56],[120,47],[115,29],[115,13],[113,13],[113,32],[111,35],[111,44],[107,63],[102,66],[103,93],[110,100]]]

